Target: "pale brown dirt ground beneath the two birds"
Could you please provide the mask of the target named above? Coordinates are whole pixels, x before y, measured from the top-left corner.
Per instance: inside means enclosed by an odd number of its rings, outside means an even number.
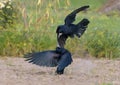
[[[120,85],[120,60],[76,58],[63,75],[24,60],[0,59],[0,85]]]

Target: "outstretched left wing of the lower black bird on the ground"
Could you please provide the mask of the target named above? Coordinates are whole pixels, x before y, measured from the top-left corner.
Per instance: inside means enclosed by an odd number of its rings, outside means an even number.
[[[26,61],[39,66],[55,67],[58,64],[59,54],[55,51],[29,53],[24,56]]]

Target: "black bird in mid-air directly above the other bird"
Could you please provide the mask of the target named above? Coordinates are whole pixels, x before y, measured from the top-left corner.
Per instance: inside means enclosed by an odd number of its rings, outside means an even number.
[[[74,35],[76,35],[78,38],[81,37],[81,35],[85,32],[87,25],[89,24],[88,19],[83,19],[77,24],[72,24],[75,21],[76,14],[80,11],[86,10],[89,8],[89,6],[82,6],[73,12],[71,12],[69,15],[65,18],[65,24],[59,25],[57,27],[56,33],[57,33],[57,41],[58,41],[58,47],[64,48],[65,42],[68,37],[73,38]]]

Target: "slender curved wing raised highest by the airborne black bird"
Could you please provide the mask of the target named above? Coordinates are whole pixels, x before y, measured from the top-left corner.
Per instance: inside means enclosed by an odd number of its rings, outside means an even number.
[[[89,8],[89,6],[82,6],[73,12],[71,12],[69,15],[66,16],[65,18],[65,25],[70,25],[75,21],[76,14],[79,13],[80,11],[83,11],[85,9]]]

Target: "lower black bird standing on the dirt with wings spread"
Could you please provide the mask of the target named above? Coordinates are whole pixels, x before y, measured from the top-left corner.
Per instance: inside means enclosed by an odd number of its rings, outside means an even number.
[[[63,74],[65,67],[72,63],[71,53],[64,49],[57,47],[56,50],[48,50],[43,52],[29,53],[25,55],[29,63],[39,66],[56,67],[57,74]]]

